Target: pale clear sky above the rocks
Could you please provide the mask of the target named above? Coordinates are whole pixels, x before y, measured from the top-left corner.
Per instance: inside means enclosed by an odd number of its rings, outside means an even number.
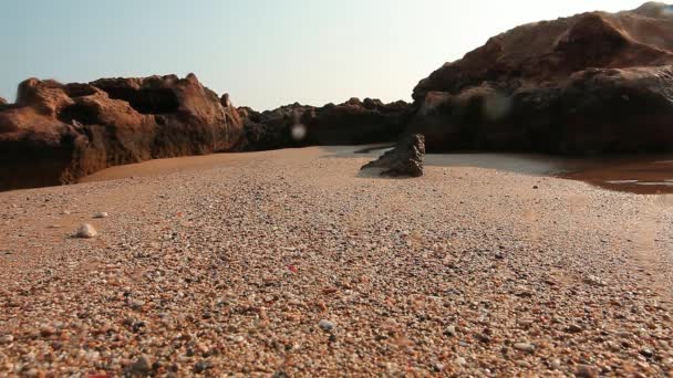
[[[518,24],[644,0],[0,0],[0,96],[27,77],[196,73],[257,109],[410,99]]]

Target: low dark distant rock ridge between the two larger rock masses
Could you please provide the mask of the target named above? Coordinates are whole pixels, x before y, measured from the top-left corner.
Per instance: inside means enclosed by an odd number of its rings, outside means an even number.
[[[394,140],[406,127],[410,109],[405,102],[383,104],[379,99],[351,98],[323,107],[296,103],[263,113],[239,108],[239,113],[246,129],[246,148],[259,150]]]

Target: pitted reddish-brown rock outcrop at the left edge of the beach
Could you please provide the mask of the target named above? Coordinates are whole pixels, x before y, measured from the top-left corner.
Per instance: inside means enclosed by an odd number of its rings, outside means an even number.
[[[227,151],[242,120],[194,74],[60,84],[29,78],[0,107],[0,190],[73,182],[153,158]]]

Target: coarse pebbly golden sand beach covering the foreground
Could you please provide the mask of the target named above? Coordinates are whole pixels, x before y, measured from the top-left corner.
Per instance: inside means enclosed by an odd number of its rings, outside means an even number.
[[[356,149],[1,192],[0,377],[672,376],[673,197]]]

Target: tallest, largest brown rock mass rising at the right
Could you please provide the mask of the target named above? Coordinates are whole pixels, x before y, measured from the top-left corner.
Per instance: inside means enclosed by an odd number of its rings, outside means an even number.
[[[428,150],[673,150],[673,7],[591,12],[491,38],[414,88]]]

